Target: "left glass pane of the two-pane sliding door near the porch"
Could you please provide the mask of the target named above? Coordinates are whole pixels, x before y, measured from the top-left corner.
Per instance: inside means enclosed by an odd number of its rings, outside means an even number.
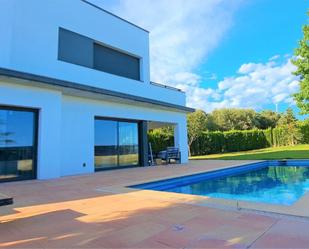
[[[118,165],[117,122],[95,120],[95,168]]]

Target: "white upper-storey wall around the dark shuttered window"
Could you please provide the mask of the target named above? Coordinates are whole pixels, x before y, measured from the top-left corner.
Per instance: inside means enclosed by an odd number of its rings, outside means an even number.
[[[140,57],[142,81],[58,60],[59,27]],[[149,33],[81,0],[1,0],[0,34],[0,67],[185,105],[150,84]]]

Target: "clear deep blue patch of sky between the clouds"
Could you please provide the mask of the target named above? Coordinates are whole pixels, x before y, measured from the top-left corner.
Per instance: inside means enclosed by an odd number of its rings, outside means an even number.
[[[308,7],[304,0],[249,0],[200,70],[215,72],[222,79],[233,75],[245,62],[265,62],[276,54],[292,54],[302,37]]]

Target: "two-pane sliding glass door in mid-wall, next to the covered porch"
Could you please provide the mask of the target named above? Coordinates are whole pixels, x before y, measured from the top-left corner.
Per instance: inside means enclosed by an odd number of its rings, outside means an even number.
[[[137,165],[138,123],[95,119],[95,169]]]

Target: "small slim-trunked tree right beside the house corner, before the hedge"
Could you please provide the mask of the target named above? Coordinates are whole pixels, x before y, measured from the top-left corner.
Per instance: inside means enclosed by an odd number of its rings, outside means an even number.
[[[207,130],[207,114],[202,110],[197,110],[187,116],[188,125],[188,146],[191,155],[192,143]]]

